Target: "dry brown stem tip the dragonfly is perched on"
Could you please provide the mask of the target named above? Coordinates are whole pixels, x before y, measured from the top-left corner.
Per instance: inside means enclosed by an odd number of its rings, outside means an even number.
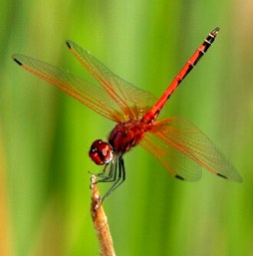
[[[91,178],[92,204],[91,215],[97,237],[99,239],[102,256],[116,256],[113,239],[109,229],[108,217],[101,204],[101,194],[96,185],[96,176]]]

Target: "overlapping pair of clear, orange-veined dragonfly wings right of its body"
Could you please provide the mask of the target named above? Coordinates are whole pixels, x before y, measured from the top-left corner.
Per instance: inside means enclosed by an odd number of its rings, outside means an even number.
[[[201,177],[200,166],[221,177],[241,182],[237,170],[213,142],[189,121],[172,117],[156,123],[140,144],[168,171],[183,180]]]

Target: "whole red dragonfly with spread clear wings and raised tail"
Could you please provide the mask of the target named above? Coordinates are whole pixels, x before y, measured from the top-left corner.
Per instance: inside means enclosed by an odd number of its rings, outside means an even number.
[[[117,123],[110,132],[108,141],[94,141],[89,152],[97,164],[105,165],[103,172],[97,174],[97,182],[113,182],[104,195],[104,200],[125,181],[124,154],[138,143],[157,157],[170,174],[179,179],[198,180],[202,166],[220,177],[242,181],[240,174],[213,142],[192,123],[178,117],[156,122],[166,101],[206,53],[218,32],[219,28],[210,32],[158,100],[115,75],[72,41],[67,41],[67,46],[100,86],[27,56],[14,55],[13,59],[23,69]]]

